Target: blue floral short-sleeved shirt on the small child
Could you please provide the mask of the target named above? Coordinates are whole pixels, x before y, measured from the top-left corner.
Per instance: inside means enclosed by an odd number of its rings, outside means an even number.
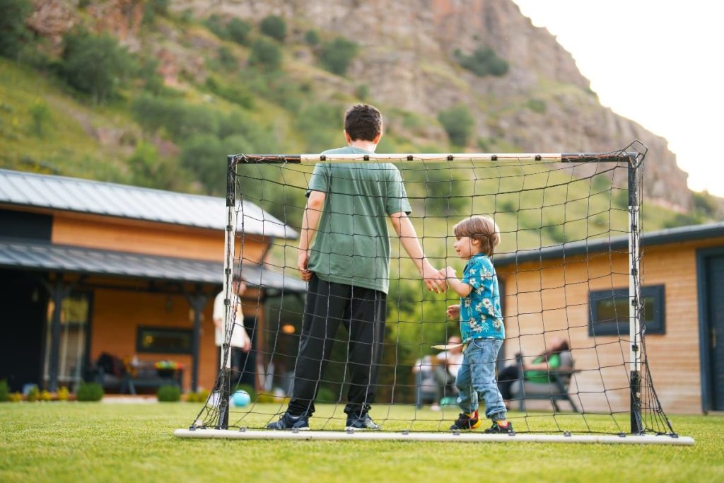
[[[505,339],[500,290],[489,256],[482,253],[473,255],[460,281],[473,288],[467,297],[460,297],[460,337],[463,343],[472,339]]]

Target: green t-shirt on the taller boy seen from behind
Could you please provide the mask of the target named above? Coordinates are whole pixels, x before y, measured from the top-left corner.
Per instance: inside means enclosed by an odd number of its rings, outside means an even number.
[[[373,154],[346,147],[322,154]],[[387,218],[411,207],[400,170],[390,163],[319,163],[311,191],[326,193],[308,268],[327,282],[387,293],[390,287],[390,234]]]

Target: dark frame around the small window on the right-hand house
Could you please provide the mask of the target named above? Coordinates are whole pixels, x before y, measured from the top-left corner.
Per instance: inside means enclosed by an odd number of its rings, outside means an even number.
[[[646,303],[647,298],[653,298],[653,318],[649,322],[641,320],[645,324],[647,334],[666,333],[666,290],[665,285],[647,285],[641,287],[641,298]],[[628,311],[620,316],[619,321],[600,322],[597,320],[598,304],[611,299],[626,301],[628,308],[628,287],[615,288],[613,290],[591,290],[589,292],[589,337],[594,335],[628,335]],[[644,309],[645,310],[645,309]],[[595,329],[595,330],[594,330]]]

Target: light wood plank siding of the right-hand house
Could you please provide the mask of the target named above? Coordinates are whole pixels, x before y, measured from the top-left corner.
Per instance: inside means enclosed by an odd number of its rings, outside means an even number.
[[[665,334],[646,337],[654,388],[668,413],[701,413],[696,250],[724,238],[644,248],[643,285],[665,285]],[[545,340],[571,343],[571,392],[586,412],[628,411],[628,332],[589,336],[589,291],[628,288],[627,253],[590,253],[497,269],[504,283],[505,358],[534,356]],[[510,361],[507,361],[510,364]],[[550,406],[550,404],[549,404]]]

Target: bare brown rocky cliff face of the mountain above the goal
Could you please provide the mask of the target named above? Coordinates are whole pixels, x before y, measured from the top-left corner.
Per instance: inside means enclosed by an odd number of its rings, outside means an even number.
[[[33,28],[59,35],[72,26],[76,4],[36,1]],[[107,0],[90,2],[86,10],[98,30],[111,30],[138,49],[142,4]],[[430,119],[442,109],[465,104],[476,121],[477,142],[473,140],[471,150],[605,152],[639,139],[649,148],[647,201],[681,211],[691,208],[686,172],[677,167],[666,140],[601,106],[571,54],[547,30],[534,27],[512,0],[171,0],[170,9],[254,22],[277,14],[287,21],[290,39],[299,44],[312,29],[343,35],[361,47],[348,79],[319,76],[315,82],[348,90],[364,84],[371,102]],[[505,59],[508,73],[476,77],[463,70],[455,51],[470,53],[480,47]],[[173,72],[173,59],[164,58],[164,52],[159,56]],[[305,61],[303,49],[292,56]],[[179,57],[178,62],[186,61]],[[424,135],[433,140],[444,136],[433,124]]]

